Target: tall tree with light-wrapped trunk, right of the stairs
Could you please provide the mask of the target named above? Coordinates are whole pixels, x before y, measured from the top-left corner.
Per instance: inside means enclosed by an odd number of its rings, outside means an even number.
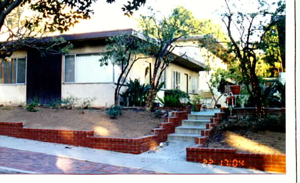
[[[268,4],[267,1],[258,0],[251,2],[253,6],[257,5],[258,11],[241,12],[241,2],[229,4],[226,3],[227,12],[222,14],[222,21],[226,25],[228,36],[230,38],[231,50],[235,53],[240,62],[240,69],[243,76],[243,82],[246,85],[247,92],[251,98],[256,99],[255,106],[261,111],[261,87],[256,73],[258,62],[257,50],[263,50],[271,46],[265,40],[266,34],[271,27],[277,23],[279,14],[285,13],[285,2],[279,1],[277,4]],[[233,32],[237,32],[235,38]]]

